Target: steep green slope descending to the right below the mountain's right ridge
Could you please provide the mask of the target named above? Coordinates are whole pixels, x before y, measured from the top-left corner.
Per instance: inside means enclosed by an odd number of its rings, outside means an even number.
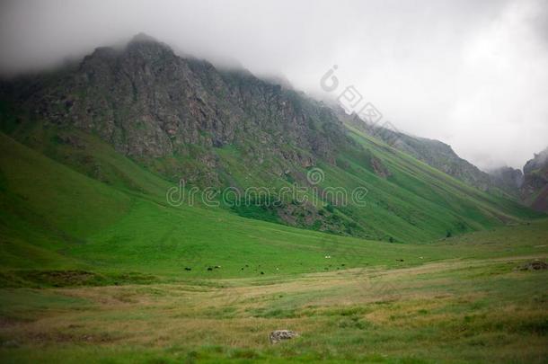
[[[368,224],[368,231],[376,231],[374,236],[425,241],[538,216],[514,201],[459,182],[356,129],[350,136],[367,156],[342,151],[336,166],[321,164],[326,176],[323,186],[365,186],[367,207],[350,204],[340,211]]]

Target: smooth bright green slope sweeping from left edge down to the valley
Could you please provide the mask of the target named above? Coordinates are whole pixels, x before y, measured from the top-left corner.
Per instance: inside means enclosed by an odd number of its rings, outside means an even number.
[[[388,249],[386,243],[239,218],[225,209],[172,208],[152,188],[144,193],[119,187],[128,175],[110,185],[98,182],[1,138],[3,270],[231,277],[336,270],[367,263],[373,253],[390,264],[394,256],[410,254],[402,244]],[[144,173],[124,157],[118,162],[119,170],[137,173],[133,177]],[[221,268],[208,271],[216,265]]]

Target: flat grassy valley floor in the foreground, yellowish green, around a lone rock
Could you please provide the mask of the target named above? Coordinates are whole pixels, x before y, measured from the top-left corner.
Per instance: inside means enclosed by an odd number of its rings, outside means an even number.
[[[406,246],[424,262],[386,264],[383,252],[378,264],[371,253],[363,268],[325,272],[5,288],[0,359],[548,361],[548,270],[520,269],[545,262],[548,221]],[[272,345],[276,329],[300,336]]]

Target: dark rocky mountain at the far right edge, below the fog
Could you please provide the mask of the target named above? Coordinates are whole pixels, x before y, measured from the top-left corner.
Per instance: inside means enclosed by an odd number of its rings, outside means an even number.
[[[523,199],[531,208],[548,212],[548,147],[527,161],[523,172]]]

